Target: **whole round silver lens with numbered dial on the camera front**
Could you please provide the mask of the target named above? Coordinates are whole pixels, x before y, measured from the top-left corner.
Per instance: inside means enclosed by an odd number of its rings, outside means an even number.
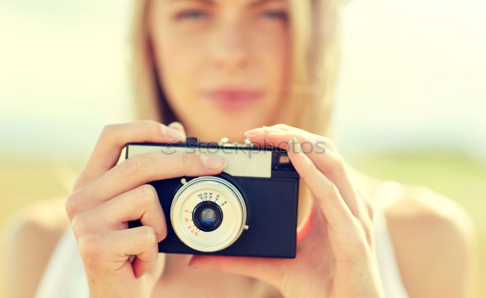
[[[204,252],[232,245],[246,223],[246,205],[240,191],[216,176],[181,179],[181,183],[171,205],[171,224],[179,240]]]

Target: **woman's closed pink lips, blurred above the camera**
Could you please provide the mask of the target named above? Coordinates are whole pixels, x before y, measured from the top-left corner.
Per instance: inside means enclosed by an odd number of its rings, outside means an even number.
[[[254,89],[215,89],[206,92],[206,98],[212,104],[223,109],[242,109],[256,103],[262,96]]]

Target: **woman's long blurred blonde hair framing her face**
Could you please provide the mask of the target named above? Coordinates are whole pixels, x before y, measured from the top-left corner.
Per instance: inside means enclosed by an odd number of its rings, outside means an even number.
[[[151,0],[134,1],[131,32],[131,75],[137,119],[168,124],[176,116],[167,104],[157,77],[147,30]],[[291,75],[276,123],[286,123],[319,135],[330,134],[330,114],[340,63],[339,0],[288,0],[291,35]],[[309,190],[300,184],[299,222],[309,210]],[[275,289],[255,287],[252,297],[275,297]],[[270,292],[267,292],[270,291]],[[265,292],[265,294],[263,294]]]

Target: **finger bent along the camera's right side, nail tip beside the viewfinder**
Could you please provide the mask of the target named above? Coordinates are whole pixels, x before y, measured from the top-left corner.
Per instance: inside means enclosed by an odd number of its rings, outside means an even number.
[[[349,218],[354,216],[339,194],[336,186],[302,152],[295,137],[289,141],[289,146],[294,147],[293,150],[288,151],[289,158],[297,173],[317,199],[317,203],[326,216],[328,224],[334,230],[347,230],[349,228]]]

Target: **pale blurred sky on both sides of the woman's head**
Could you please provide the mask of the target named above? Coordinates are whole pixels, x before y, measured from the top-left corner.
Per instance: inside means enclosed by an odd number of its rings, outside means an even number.
[[[130,3],[0,1],[2,154],[87,158],[105,124],[131,119]],[[343,16],[341,150],[486,159],[486,2],[353,0]]]

